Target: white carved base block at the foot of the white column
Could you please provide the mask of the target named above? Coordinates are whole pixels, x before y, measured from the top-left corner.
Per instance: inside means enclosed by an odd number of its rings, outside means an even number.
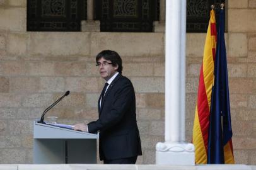
[[[195,165],[195,147],[186,142],[158,142],[156,144],[156,164]]]

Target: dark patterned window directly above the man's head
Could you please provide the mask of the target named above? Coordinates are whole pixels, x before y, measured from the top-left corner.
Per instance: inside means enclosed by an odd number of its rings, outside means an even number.
[[[159,20],[159,0],[95,1],[100,31],[151,32]]]

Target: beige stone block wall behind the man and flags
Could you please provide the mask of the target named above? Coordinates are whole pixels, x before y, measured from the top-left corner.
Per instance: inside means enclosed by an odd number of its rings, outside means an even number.
[[[232,0],[228,5],[226,48],[235,161],[256,164],[256,1]],[[0,163],[33,162],[33,120],[67,90],[71,94],[48,116],[70,124],[97,118],[103,80],[95,55],[112,49],[122,56],[123,74],[136,90],[143,145],[137,163],[154,164],[154,147],[164,141],[164,36],[26,32],[26,0],[0,0]],[[192,135],[205,38],[205,33],[187,33],[187,141]]]

